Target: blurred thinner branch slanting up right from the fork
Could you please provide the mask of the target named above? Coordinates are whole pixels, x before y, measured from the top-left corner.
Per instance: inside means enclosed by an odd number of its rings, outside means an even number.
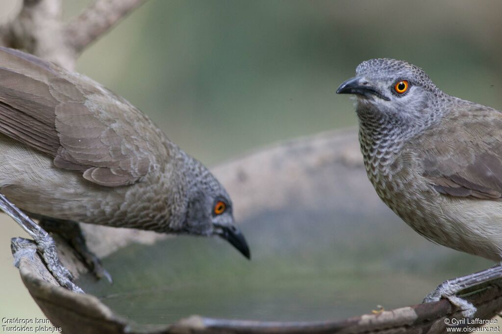
[[[96,0],[66,26],[65,34],[68,43],[71,44],[75,52],[82,52],[85,47],[97,40],[145,1]]]

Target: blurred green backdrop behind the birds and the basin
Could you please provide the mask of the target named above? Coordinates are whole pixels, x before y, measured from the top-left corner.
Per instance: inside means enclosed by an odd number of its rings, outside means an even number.
[[[65,1],[65,17],[89,3]],[[0,0],[2,20],[18,8]],[[495,0],[151,0],[86,50],[77,70],[211,165],[356,125],[350,100],[334,92],[369,58],[405,59],[447,93],[502,109],[501,10]],[[2,217],[2,317],[42,316],[12,266],[10,238],[22,235]]]

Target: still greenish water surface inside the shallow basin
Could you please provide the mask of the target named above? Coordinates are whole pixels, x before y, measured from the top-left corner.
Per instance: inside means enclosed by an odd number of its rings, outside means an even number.
[[[132,245],[104,259],[112,285],[89,276],[78,284],[140,324],[192,314],[326,320],[419,303],[442,280],[490,265],[422,240],[382,208],[370,217],[319,209],[248,219],[252,261],[216,238]]]

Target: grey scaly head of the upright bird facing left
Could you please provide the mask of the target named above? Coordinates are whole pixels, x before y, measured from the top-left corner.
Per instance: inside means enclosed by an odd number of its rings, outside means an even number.
[[[447,96],[419,67],[387,58],[362,62],[356,76],[343,82],[336,92],[356,96],[360,120],[384,119],[416,130],[440,116],[435,104]]]

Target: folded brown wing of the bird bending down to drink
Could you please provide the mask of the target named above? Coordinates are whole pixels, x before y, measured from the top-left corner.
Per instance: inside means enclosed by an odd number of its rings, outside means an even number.
[[[104,186],[135,183],[166,138],[140,110],[93,80],[0,47],[0,133]]]

